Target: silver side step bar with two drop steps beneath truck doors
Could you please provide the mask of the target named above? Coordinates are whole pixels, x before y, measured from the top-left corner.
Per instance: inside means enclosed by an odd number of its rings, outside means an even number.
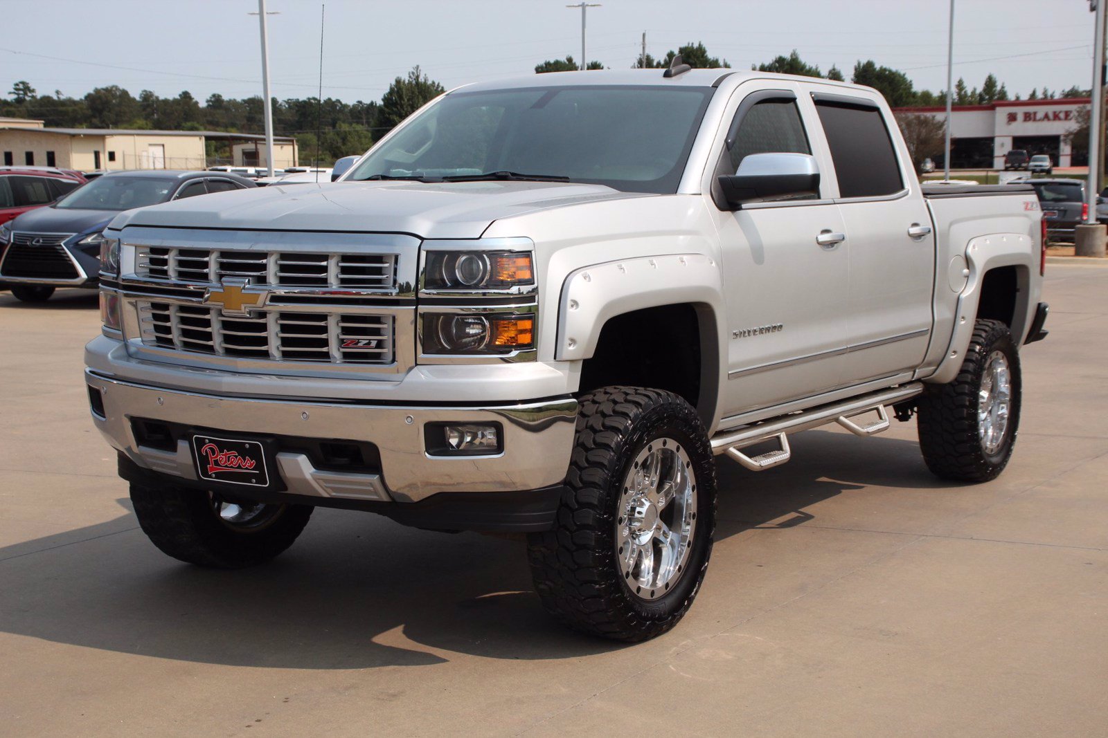
[[[751,471],[771,469],[792,458],[788,434],[818,428],[829,423],[838,423],[855,436],[873,436],[889,429],[890,422],[885,405],[895,405],[922,393],[923,383],[912,382],[901,387],[882,389],[799,413],[790,413],[773,420],[763,420],[738,430],[720,434],[711,439],[711,450],[716,455],[727,454]],[[878,414],[878,418],[865,425],[859,425],[851,419],[874,412]],[[758,456],[748,456],[740,450],[768,440],[777,440],[780,448]]]

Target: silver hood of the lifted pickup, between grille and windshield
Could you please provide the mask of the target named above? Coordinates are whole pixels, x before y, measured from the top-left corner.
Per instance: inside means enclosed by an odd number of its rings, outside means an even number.
[[[129,210],[112,227],[371,231],[469,239],[480,238],[499,218],[634,197],[656,196],[603,185],[538,181],[270,185]]]

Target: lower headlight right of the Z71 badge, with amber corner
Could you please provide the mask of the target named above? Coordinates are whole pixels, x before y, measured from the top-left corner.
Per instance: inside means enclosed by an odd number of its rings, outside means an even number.
[[[535,345],[534,314],[430,313],[423,315],[423,353],[509,354]]]

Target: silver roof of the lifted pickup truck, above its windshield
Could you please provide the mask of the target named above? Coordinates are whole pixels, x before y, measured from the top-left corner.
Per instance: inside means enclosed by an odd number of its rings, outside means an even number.
[[[751,70],[732,70],[727,67],[711,70],[689,70],[676,76],[664,77],[665,70],[593,70],[588,72],[548,72],[544,74],[529,74],[526,76],[505,77],[489,82],[474,82],[451,90],[451,92],[478,92],[485,90],[512,90],[521,87],[548,87],[561,85],[678,85],[714,87],[724,77],[735,76],[748,80],[789,80],[792,82],[820,82],[841,85],[853,90],[868,90],[862,85],[837,82],[834,80],[823,80],[820,77],[798,76],[796,74],[777,74],[773,72],[756,72]]]

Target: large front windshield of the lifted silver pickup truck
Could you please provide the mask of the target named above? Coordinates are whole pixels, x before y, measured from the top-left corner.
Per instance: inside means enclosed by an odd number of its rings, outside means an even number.
[[[675,193],[711,87],[583,85],[455,92],[348,179],[566,178]]]

